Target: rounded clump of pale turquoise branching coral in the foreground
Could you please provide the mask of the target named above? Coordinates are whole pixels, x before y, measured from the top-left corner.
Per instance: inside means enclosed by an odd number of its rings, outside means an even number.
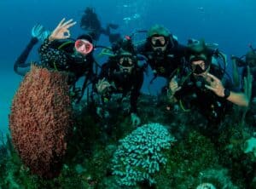
[[[119,185],[136,186],[137,182],[155,182],[154,174],[167,162],[166,150],[175,141],[168,130],[159,123],[149,123],[134,130],[113,155],[113,175]]]

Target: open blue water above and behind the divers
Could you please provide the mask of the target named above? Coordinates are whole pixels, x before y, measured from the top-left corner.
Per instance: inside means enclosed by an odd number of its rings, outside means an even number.
[[[204,37],[207,43],[218,43],[229,57],[230,54],[245,54],[248,43],[256,47],[254,0],[0,0],[1,131],[8,132],[9,107],[22,79],[13,72],[13,65],[30,40],[32,26],[40,23],[52,30],[63,17],[72,18],[78,21],[71,31],[76,37],[83,32],[79,20],[87,6],[96,8],[102,26],[109,22],[117,23],[118,31],[124,35],[161,24],[181,43],[186,43],[190,37]],[[136,14],[140,15],[139,18],[133,18]],[[127,17],[131,20],[125,23],[124,18]],[[102,36],[99,43],[108,45],[107,37]],[[36,49],[28,61],[38,60]],[[161,83],[163,81],[158,80],[151,87],[154,94]],[[143,86],[144,92],[148,92],[147,86],[148,79]]]

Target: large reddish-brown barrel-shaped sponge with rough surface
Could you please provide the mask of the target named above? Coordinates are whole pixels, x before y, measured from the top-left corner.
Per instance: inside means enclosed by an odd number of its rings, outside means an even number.
[[[9,128],[15,149],[33,174],[60,173],[72,124],[67,76],[32,66],[15,94]]]

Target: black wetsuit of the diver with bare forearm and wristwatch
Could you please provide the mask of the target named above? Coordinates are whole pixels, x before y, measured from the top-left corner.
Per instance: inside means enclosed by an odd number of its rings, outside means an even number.
[[[223,75],[216,66],[211,66],[210,73],[218,78],[221,78]],[[185,76],[182,77],[184,78]],[[182,80],[182,77],[179,77],[179,80]],[[225,89],[237,91],[237,89],[233,88],[228,77],[223,77],[222,83]],[[178,90],[174,96],[179,100],[179,104],[184,109],[201,112],[212,124],[220,123],[225,113],[230,110],[232,103],[223,97],[219,97],[210,89],[206,89],[204,84],[203,79],[196,80],[191,74],[183,81],[182,89]]]

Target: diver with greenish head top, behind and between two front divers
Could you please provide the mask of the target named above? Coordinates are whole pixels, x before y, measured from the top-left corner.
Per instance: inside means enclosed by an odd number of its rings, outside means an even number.
[[[137,46],[138,54],[143,54],[155,77],[169,79],[183,64],[185,46],[177,43],[177,37],[164,26],[154,25],[148,30],[145,43]],[[154,78],[151,80],[153,82]]]

